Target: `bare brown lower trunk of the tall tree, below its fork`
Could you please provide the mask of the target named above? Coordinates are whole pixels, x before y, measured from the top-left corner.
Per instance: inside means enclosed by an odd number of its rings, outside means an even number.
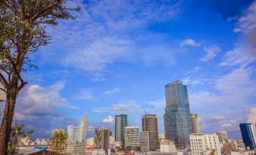
[[[0,155],[8,153],[8,141],[11,133],[11,123],[14,117],[14,107],[17,99],[17,89],[12,88],[7,91],[5,111],[3,114],[0,131]]]

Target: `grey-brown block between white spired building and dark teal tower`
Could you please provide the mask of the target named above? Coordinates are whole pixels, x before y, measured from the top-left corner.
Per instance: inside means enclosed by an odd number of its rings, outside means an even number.
[[[109,150],[109,129],[108,128],[95,128],[94,129],[94,147],[105,150],[108,154]]]

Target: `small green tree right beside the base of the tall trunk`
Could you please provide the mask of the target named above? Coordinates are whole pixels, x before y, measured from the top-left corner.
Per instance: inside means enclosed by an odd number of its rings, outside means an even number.
[[[29,130],[26,132],[26,126],[23,124],[15,124],[11,127],[11,136],[9,138],[8,144],[8,154],[14,154],[15,147],[19,144],[21,138],[25,138],[27,136],[31,137],[33,130]]]

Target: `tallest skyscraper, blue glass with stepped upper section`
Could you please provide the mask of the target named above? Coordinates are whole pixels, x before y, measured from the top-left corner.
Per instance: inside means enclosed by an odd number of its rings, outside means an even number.
[[[181,81],[165,85],[165,138],[175,141],[179,149],[190,147],[192,123],[187,86]]]

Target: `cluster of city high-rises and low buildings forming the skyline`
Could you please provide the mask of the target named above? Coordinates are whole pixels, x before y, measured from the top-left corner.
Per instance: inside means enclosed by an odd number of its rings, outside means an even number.
[[[156,114],[144,114],[141,127],[128,126],[128,116],[115,116],[115,131],[100,127],[87,138],[85,114],[79,126],[67,126],[67,154],[177,154],[177,155],[253,155],[256,126],[241,123],[242,141],[227,138],[227,132],[200,132],[199,116],[190,113],[187,86],[181,81],[165,85],[165,134],[159,134]]]

